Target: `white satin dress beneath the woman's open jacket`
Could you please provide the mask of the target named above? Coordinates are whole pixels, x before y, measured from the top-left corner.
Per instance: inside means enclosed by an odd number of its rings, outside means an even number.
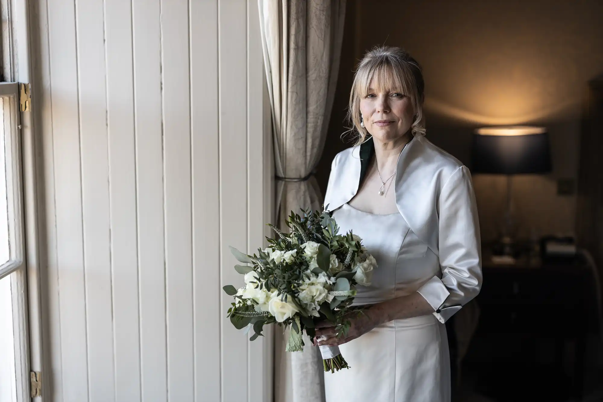
[[[399,213],[377,215],[344,203],[333,211],[339,233],[352,229],[377,261],[371,286],[354,305],[416,292],[441,272],[437,255]],[[449,402],[446,327],[434,316],[390,321],[339,346],[349,369],[324,373],[327,402]]]

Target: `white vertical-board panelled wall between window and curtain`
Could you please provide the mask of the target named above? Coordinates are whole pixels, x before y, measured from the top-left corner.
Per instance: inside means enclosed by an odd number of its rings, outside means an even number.
[[[273,209],[257,1],[30,5],[43,401],[271,400],[221,290]]]

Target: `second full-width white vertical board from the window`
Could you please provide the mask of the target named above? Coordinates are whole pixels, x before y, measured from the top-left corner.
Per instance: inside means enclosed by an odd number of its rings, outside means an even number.
[[[110,402],[115,384],[103,0],[77,0],[75,11],[89,401]]]

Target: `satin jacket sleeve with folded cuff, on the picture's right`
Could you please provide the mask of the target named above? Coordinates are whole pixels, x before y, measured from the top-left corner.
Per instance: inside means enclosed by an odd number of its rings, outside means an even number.
[[[429,279],[418,293],[434,308],[438,321],[446,322],[482,285],[478,209],[467,167],[457,168],[444,184],[438,217],[441,276]]]

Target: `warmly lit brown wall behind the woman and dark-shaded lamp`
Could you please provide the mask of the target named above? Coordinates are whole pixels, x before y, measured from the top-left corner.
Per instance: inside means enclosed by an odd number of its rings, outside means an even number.
[[[350,70],[376,44],[403,46],[423,65],[428,138],[470,162],[475,127],[538,124],[551,133],[554,171],[514,179],[518,235],[570,234],[575,197],[557,196],[557,178],[576,178],[581,100],[603,72],[603,2],[350,2],[338,94],[319,176],[346,147],[343,132]],[[496,237],[505,179],[475,178],[482,237]]]

